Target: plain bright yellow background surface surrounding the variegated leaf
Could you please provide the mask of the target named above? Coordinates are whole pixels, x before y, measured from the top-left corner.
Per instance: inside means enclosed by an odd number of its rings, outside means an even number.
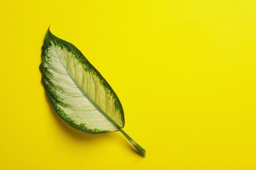
[[[3,1],[0,169],[256,169],[256,1]],[[41,84],[45,33],[117,93],[124,130],[66,125]]]

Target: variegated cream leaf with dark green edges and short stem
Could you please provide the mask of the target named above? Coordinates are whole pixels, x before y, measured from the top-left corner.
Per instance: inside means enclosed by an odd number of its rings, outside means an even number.
[[[66,123],[86,133],[120,131],[146,156],[146,151],[122,129],[125,118],[116,93],[73,44],[48,29],[41,59],[47,98]]]

